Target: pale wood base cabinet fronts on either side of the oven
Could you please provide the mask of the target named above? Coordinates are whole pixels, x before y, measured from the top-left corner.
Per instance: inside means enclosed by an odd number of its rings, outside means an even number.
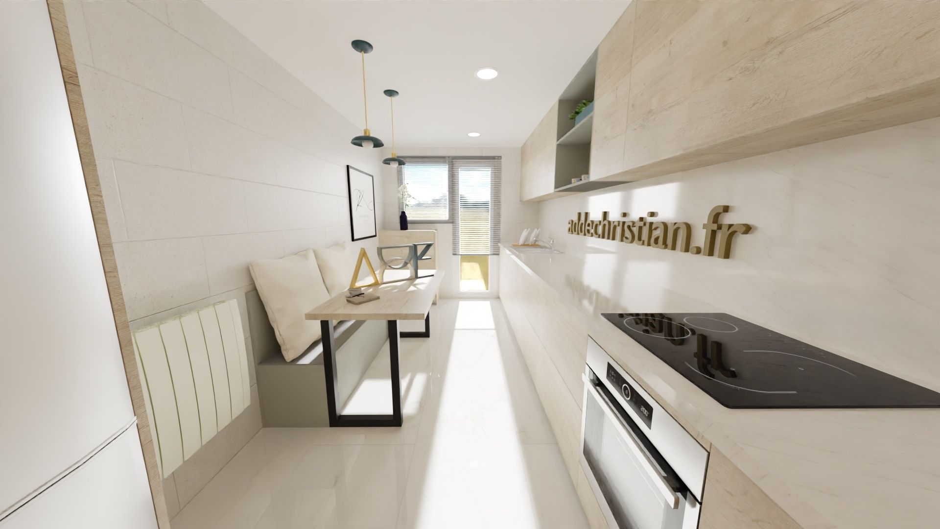
[[[499,265],[499,297],[578,498],[590,526],[606,529],[601,507],[580,465],[586,315],[565,303],[506,249],[501,252]],[[712,447],[698,529],[800,527],[728,457]]]

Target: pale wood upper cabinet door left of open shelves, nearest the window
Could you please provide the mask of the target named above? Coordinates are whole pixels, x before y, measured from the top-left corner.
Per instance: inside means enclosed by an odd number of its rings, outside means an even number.
[[[522,150],[522,200],[534,200],[555,192],[555,151],[558,139],[558,103],[552,105]]]

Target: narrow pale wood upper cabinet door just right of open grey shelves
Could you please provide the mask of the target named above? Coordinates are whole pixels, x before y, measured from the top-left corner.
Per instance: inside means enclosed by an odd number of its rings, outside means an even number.
[[[635,3],[632,3],[623,11],[617,24],[614,24],[597,49],[594,125],[590,141],[591,179],[625,169],[623,142],[630,107],[635,14]]]

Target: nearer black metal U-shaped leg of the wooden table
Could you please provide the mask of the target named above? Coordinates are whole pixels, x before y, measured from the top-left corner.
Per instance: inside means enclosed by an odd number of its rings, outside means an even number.
[[[401,418],[401,374],[399,371],[399,322],[388,320],[388,354],[390,355],[392,379],[391,415],[340,415],[337,410],[337,362],[336,336],[333,322],[321,320],[323,345],[323,375],[326,377],[326,408],[330,415],[330,426],[400,426]]]

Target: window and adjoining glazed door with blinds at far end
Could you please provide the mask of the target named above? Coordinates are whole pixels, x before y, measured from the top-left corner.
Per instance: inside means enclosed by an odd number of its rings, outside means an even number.
[[[502,159],[499,156],[402,156],[408,220],[453,223],[462,292],[490,290],[490,256],[499,252]],[[399,204],[400,206],[401,204]],[[440,255],[440,254],[438,254]]]

